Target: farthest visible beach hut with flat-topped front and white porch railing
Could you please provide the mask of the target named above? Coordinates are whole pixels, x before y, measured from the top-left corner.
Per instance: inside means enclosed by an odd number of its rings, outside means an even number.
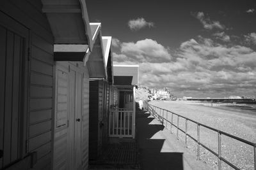
[[[109,137],[135,138],[135,89],[138,65],[114,65],[115,107],[109,115]]]

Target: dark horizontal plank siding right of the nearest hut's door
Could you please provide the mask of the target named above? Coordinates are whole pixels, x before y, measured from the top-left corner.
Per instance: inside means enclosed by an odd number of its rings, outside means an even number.
[[[53,41],[49,42],[41,36],[35,31],[31,32],[28,129],[28,152],[37,152],[35,167],[38,169],[51,164],[54,108]]]

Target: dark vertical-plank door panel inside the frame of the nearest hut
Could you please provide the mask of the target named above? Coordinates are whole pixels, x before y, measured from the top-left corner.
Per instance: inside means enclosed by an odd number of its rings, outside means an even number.
[[[13,21],[14,22],[14,21]],[[0,168],[22,157],[22,76],[25,38],[0,25]]]

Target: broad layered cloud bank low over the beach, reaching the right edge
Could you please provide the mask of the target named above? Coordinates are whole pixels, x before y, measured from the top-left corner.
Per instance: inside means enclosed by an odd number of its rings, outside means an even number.
[[[145,51],[140,41],[129,46],[136,46],[132,55]],[[179,97],[255,94],[256,52],[246,46],[221,45],[212,39],[198,36],[181,43],[172,53],[172,60],[157,62],[147,57],[131,59],[129,52],[131,50],[127,50],[125,54],[113,53],[114,60],[116,64],[139,63],[140,85],[169,87],[172,93]]]

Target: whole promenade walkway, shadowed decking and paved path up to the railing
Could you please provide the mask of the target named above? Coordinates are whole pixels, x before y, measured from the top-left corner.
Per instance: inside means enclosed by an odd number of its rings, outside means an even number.
[[[136,139],[114,141],[90,169],[211,169],[145,111],[136,110]]]

